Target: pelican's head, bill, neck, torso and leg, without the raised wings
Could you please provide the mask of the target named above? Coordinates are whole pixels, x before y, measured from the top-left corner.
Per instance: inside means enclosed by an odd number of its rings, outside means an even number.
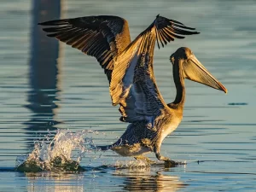
[[[171,134],[183,119],[184,79],[190,79],[227,92],[224,85],[219,83],[201,65],[201,62],[196,59],[189,48],[177,49],[171,55],[170,60],[172,61],[173,79],[177,91],[174,102],[162,103],[164,108],[161,109],[159,115],[155,116],[153,125],[150,120],[138,120],[131,123],[119,140],[108,148],[123,156],[140,156],[148,152],[154,152],[159,160],[172,162],[160,155],[160,146],[166,136]]]

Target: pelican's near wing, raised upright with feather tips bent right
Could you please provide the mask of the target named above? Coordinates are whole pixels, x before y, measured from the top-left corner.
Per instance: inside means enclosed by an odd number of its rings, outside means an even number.
[[[113,105],[120,105],[120,120],[150,120],[164,112],[166,103],[157,88],[153,71],[154,44],[164,46],[174,38],[198,34],[194,28],[176,20],[157,16],[114,63],[110,95]]]

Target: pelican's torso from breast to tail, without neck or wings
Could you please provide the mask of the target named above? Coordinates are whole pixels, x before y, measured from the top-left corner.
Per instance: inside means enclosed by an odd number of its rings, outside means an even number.
[[[154,127],[147,121],[132,123],[119,140],[108,148],[122,156],[140,156],[159,151],[163,140],[177,128],[183,116],[166,108],[162,117],[154,120]]]

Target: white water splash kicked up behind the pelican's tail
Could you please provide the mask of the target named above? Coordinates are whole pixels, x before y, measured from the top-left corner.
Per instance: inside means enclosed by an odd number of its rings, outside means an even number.
[[[36,142],[32,153],[18,156],[16,170],[20,172],[79,172],[84,168],[79,165],[85,152],[93,146],[92,139],[86,134],[95,131],[58,130],[49,141],[50,134],[44,141]],[[85,137],[85,138],[84,138]],[[76,154],[74,154],[76,152]]]

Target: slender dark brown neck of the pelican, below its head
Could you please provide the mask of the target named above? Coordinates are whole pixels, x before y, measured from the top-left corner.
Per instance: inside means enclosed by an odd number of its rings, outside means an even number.
[[[185,102],[185,82],[183,78],[183,67],[181,60],[175,61],[173,65],[173,79],[177,94],[174,102],[172,102],[172,105],[174,105],[176,108],[183,109]]]

